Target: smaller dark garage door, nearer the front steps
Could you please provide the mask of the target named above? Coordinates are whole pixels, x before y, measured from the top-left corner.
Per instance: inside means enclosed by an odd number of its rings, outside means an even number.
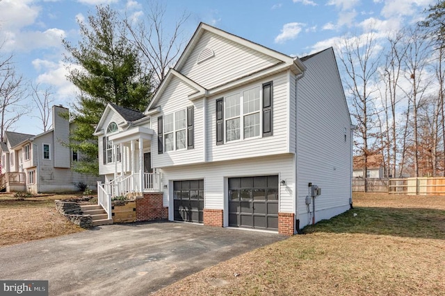
[[[203,223],[204,180],[174,181],[173,207],[176,221]]]

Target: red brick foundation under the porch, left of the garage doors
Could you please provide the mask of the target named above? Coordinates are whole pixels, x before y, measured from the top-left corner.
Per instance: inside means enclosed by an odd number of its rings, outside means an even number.
[[[168,218],[168,207],[163,207],[163,193],[144,193],[136,198],[136,221]]]

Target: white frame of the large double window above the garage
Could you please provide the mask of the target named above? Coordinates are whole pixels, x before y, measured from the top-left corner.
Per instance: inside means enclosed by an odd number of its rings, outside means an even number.
[[[248,91],[249,89],[254,89],[256,87],[259,87],[259,110],[257,112],[249,112],[249,113],[244,113],[244,96],[243,96],[243,92]],[[235,94],[239,94],[239,103],[240,103],[240,112],[239,112],[239,116],[234,116],[234,117],[226,117],[227,116],[227,112],[225,112],[225,107],[226,107],[226,98],[229,96],[233,96]],[[263,112],[261,112],[261,110],[263,110],[263,87],[262,85],[254,85],[252,87],[246,87],[244,89],[241,89],[237,92],[232,92],[230,94],[227,94],[226,96],[224,96],[224,106],[223,106],[223,110],[224,110],[224,124],[223,124],[223,128],[224,128],[224,143],[236,143],[239,141],[248,141],[248,140],[252,140],[252,139],[259,139],[262,138],[262,134],[263,134]],[[259,135],[255,136],[255,137],[248,137],[245,138],[244,137],[244,116],[248,116],[251,114],[255,114],[255,113],[259,113]],[[240,123],[239,123],[239,130],[240,130],[240,136],[239,139],[237,140],[231,140],[231,141],[227,141],[227,120],[230,119],[235,119],[235,118],[239,118]]]

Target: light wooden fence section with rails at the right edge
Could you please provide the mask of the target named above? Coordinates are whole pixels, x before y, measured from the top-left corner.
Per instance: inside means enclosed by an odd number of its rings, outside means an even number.
[[[445,177],[390,179],[388,182],[388,193],[445,195]]]

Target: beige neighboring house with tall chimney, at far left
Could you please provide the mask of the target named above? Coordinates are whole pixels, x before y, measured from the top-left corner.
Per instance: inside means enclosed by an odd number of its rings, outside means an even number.
[[[69,141],[72,128],[72,123],[62,115],[68,109],[53,106],[52,112],[53,128],[47,132],[38,135],[5,132],[0,143],[1,189],[31,193],[76,191],[79,182],[95,189],[97,180],[103,180],[71,170],[72,162],[80,155],[63,144]]]

